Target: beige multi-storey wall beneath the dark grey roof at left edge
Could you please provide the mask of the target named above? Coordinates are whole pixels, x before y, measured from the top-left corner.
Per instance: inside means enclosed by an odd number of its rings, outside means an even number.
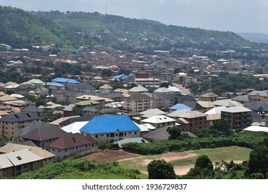
[[[30,121],[18,121],[18,122],[3,122],[0,121],[0,128],[1,128],[1,133],[0,135],[2,136],[3,134],[6,134],[8,136],[13,136],[14,132],[17,132],[21,128],[25,128],[28,125],[38,123],[40,122],[41,119],[35,119],[35,120],[30,120]]]

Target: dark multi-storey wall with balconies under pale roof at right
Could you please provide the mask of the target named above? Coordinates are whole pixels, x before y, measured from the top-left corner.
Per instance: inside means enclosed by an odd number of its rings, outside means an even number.
[[[239,130],[243,125],[252,124],[252,112],[224,112],[221,111],[221,119],[227,121],[232,130]]]

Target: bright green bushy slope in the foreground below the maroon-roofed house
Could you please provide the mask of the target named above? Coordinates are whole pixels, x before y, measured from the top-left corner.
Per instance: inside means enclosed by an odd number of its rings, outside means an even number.
[[[25,172],[15,179],[137,179],[137,170],[126,170],[118,163],[98,164],[82,159],[52,163],[39,170]]]

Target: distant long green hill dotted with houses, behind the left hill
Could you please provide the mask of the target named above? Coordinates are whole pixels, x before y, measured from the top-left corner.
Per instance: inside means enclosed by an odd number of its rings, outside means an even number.
[[[158,21],[129,19],[98,12],[30,12],[39,17],[52,19],[72,32],[81,32],[101,38],[109,45],[120,48],[147,50],[172,48],[236,49],[252,46],[234,32],[219,32],[168,26]]]

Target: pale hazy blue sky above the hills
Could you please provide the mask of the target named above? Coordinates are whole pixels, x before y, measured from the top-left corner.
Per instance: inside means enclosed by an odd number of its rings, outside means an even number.
[[[205,30],[268,34],[267,0],[0,0],[0,6],[100,12]]]

